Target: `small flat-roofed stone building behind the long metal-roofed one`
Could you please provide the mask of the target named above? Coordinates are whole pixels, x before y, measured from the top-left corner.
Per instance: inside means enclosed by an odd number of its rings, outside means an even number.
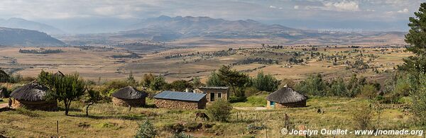
[[[214,102],[218,99],[228,100],[229,87],[200,87],[195,90],[195,93],[205,93],[207,102]]]

